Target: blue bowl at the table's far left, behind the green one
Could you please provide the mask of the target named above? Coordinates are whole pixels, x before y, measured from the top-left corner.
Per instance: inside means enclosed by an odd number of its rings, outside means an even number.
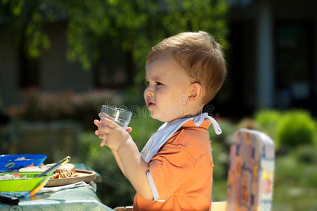
[[[26,160],[17,160],[23,157]],[[46,158],[47,155],[41,154],[0,155],[0,171],[19,170],[27,166],[39,166]]]

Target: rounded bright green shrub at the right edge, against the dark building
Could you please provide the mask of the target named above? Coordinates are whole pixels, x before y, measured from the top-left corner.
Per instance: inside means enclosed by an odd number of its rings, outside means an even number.
[[[316,137],[316,123],[304,110],[288,111],[276,128],[276,138],[282,146],[288,148],[305,144],[312,145]]]

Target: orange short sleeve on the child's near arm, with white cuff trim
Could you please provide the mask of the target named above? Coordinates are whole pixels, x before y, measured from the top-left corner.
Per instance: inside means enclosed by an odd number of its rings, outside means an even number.
[[[195,160],[181,144],[164,145],[149,164],[150,179],[158,195],[156,200],[167,200],[195,172],[196,167]]]

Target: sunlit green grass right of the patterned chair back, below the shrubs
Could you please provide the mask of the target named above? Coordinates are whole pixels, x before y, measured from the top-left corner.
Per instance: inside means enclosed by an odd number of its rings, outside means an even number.
[[[311,158],[316,155],[306,150],[303,157],[306,148],[295,148],[276,158],[273,210],[317,210],[317,168]]]

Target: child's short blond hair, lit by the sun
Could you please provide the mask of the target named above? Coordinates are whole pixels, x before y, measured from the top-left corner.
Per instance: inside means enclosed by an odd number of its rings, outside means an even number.
[[[202,103],[214,98],[226,76],[221,46],[207,32],[182,32],[153,46],[146,62],[160,56],[173,56],[186,74],[205,90]]]

